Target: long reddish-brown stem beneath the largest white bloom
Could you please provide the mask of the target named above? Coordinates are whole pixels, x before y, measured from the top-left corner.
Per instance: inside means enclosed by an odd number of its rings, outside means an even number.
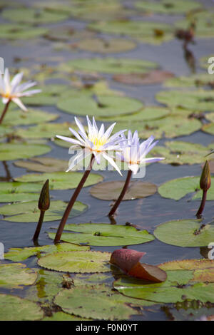
[[[91,155],[91,162],[88,165],[88,168],[86,169],[85,173],[83,174],[83,177],[82,177],[81,181],[79,182],[78,187],[76,187],[76,190],[73,192],[71,200],[68,202],[68,206],[66,207],[66,210],[63,214],[63,217],[61,218],[60,224],[58,225],[58,230],[56,232],[54,243],[58,243],[59,240],[61,239],[61,234],[63,232],[63,228],[66,225],[68,215],[71,212],[72,207],[74,205],[74,202],[76,201],[76,198],[78,197],[79,192],[81,191],[84,183],[86,182],[86,179],[87,179],[89,173],[91,172],[91,168],[92,168],[92,165],[93,165],[93,160],[94,160],[94,155]]]

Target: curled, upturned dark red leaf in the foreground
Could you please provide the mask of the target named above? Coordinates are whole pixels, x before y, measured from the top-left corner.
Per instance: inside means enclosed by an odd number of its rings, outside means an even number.
[[[111,254],[110,263],[122,269],[131,277],[145,279],[151,282],[165,282],[166,273],[159,267],[140,263],[146,252],[132,249],[118,249]]]

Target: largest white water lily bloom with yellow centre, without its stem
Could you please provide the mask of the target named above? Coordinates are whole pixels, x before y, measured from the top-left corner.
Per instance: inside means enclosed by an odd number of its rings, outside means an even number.
[[[108,151],[121,150],[119,143],[121,142],[121,135],[126,130],[118,131],[116,134],[111,136],[113,127],[116,125],[116,123],[113,123],[113,125],[111,125],[105,131],[105,127],[103,124],[101,125],[101,128],[98,129],[94,117],[92,123],[89,120],[88,115],[86,116],[86,118],[88,123],[87,132],[85,132],[83,125],[81,124],[80,120],[78,120],[78,118],[74,118],[76,125],[78,126],[78,132],[76,132],[76,130],[73,130],[72,128],[69,128],[69,130],[76,137],[76,139],[56,135],[57,138],[61,138],[61,140],[66,140],[67,142],[73,144],[70,150],[78,150],[78,154],[70,160],[67,171],[72,170],[88,155],[93,154],[98,165],[101,164],[101,157],[103,157],[121,175],[120,169],[116,165],[113,158],[108,155]]]

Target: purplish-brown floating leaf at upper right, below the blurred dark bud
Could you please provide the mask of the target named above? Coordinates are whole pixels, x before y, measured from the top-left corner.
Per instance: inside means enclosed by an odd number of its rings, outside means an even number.
[[[118,74],[113,76],[113,79],[119,83],[125,83],[128,85],[151,85],[163,83],[168,78],[172,78],[173,76],[173,73],[169,71],[155,70],[148,73]]]

